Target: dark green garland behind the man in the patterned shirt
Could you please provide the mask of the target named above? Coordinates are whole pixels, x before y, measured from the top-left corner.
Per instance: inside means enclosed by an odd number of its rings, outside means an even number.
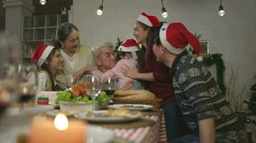
[[[224,84],[225,65],[221,56],[222,54],[213,54],[209,58],[204,58],[204,64],[206,64],[206,66],[216,64],[217,83],[219,84],[219,88],[221,89],[223,94],[226,95],[227,88]]]

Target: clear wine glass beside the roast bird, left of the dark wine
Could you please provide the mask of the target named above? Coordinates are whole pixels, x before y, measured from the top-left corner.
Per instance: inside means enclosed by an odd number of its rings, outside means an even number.
[[[91,97],[91,99],[98,97],[101,93],[101,88],[96,77],[94,77],[93,74],[86,74],[84,82],[86,84],[86,94]]]

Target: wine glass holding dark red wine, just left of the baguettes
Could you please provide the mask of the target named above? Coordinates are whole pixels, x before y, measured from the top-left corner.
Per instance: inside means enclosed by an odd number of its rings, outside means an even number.
[[[107,77],[103,84],[101,84],[101,89],[106,92],[107,95],[112,95],[116,92],[116,79],[112,77]]]

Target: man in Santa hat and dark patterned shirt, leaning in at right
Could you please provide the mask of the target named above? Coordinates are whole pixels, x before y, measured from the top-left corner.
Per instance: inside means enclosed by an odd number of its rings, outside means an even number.
[[[157,61],[170,68],[175,100],[191,130],[172,142],[247,142],[242,124],[201,62],[198,39],[183,24],[171,23],[150,29],[148,40]],[[188,44],[197,57],[188,55]]]

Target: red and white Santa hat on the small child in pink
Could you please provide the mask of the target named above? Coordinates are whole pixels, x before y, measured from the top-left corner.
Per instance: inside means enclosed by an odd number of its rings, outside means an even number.
[[[127,41],[124,41],[117,51],[125,51],[125,52],[131,52],[132,57],[134,59],[137,59],[137,54],[135,51],[140,51],[140,46],[136,43],[134,39],[127,39]]]

